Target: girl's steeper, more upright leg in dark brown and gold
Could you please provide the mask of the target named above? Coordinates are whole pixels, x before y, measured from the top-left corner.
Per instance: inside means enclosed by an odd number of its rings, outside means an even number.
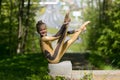
[[[59,62],[60,58],[60,52],[62,50],[62,46],[64,45],[65,38],[67,36],[67,28],[69,24],[69,13],[66,14],[65,19],[64,19],[64,24],[62,25],[61,29],[55,34],[54,36],[60,36],[57,42],[56,48],[53,50],[53,55],[50,55],[50,53],[46,50],[45,54],[47,55],[47,59],[50,63],[57,63]]]

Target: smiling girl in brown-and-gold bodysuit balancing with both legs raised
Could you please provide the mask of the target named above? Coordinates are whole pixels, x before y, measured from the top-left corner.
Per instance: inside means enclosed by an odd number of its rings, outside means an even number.
[[[79,34],[86,29],[86,25],[90,21],[85,22],[79,29],[67,31],[68,24],[71,21],[69,18],[69,12],[66,13],[64,23],[61,29],[54,36],[47,36],[46,24],[42,21],[38,21],[36,24],[37,32],[40,34],[40,46],[43,54],[47,58],[49,63],[58,63],[69,46],[77,40]],[[73,34],[71,39],[65,41],[67,35]],[[53,49],[51,41],[58,40],[56,47]]]

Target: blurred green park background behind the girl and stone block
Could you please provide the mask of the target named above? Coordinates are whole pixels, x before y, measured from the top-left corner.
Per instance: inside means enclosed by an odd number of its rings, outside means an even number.
[[[36,23],[42,19],[52,35],[67,10],[70,30],[87,20],[91,23],[63,60],[80,60],[79,69],[120,68],[119,0],[0,0],[0,80],[48,80]]]

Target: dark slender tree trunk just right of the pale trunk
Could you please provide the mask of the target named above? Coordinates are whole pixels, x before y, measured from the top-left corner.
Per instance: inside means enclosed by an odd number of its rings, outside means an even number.
[[[26,17],[26,23],[25,23],[25,35],[24,35],[24,41],[23,41],[23,53],[26,49],[27,44],[27,37],[28,37],[28,30],[29,30],[29,13],[30,13],[30,0],[28,0],[28,6],[27,6],[27,17]]]

